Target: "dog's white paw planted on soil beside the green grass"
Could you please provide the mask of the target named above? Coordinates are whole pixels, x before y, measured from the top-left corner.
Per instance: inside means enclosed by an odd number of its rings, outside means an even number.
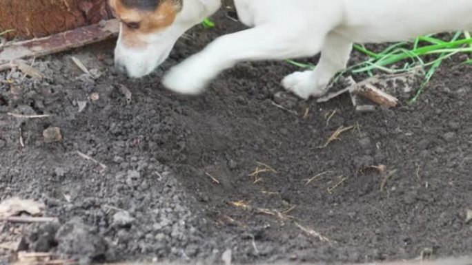
[[[282,85],[303,99],[308,99],[310,96],[322,96],[326,92],[324,87],[317,87],[313,71],[289,74],[282,80]]]

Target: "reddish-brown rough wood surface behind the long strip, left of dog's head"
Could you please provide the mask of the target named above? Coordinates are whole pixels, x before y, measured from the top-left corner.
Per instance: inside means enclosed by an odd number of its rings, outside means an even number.
[[[41,37],[111,18],[107,0],[0,0],[0,32]]]

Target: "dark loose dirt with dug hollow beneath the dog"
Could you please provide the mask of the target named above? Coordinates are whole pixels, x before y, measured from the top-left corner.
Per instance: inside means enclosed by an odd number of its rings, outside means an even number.
[[[471,66],[453,59],[419,103],[404,98],[367,114],[355,113],[347,96],[317,104],[286,94],[279,81],[297,69],[283,62],[237,65],[197,97],[164,90],[163,70],[242,28],[222,13],[216,22],[190,32],[141,80],[113,70],[113,43],[37,60],[46,81],[0,75],[0,199],[45,202],[46,215],[60,220],[1,222],[0,243],[23,237],[24,249],[84,262],[213,263],[226,249],[237,262],[472,252]],[[72,55],[99,77],[82,74]],[[59,127],[61,141],[43,138],[49,127]],[[394,173],[368,168],[377,165]],[[250,176],[257,168],[266,170]],[[1,251],[8,262],[11,253]]]

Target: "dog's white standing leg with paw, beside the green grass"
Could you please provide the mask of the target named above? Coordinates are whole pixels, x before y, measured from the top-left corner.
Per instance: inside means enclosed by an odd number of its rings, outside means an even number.
[[[344,36],[330,32],[324,41],[321,59],[315,70],[295,72],[286,76],[282,85],[300,98],[322,96],[331,78],[344,70],[348,63],[353,43]]]

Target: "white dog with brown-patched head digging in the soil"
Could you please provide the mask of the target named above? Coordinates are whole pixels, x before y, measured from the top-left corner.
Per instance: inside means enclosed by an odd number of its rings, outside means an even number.
[[[153,72],[179,36],[217,12],[220,0],[110,0],[121,21],[115,65],[132,77]],[[315,56],[315,70],[285,76],[300,98],[322,96],[348,63],[353,43],[403,41],[472,28],[472,0],[235,0],[249,27],[215,39],[164,75],[165,87],[199,94],[242,61]]]

